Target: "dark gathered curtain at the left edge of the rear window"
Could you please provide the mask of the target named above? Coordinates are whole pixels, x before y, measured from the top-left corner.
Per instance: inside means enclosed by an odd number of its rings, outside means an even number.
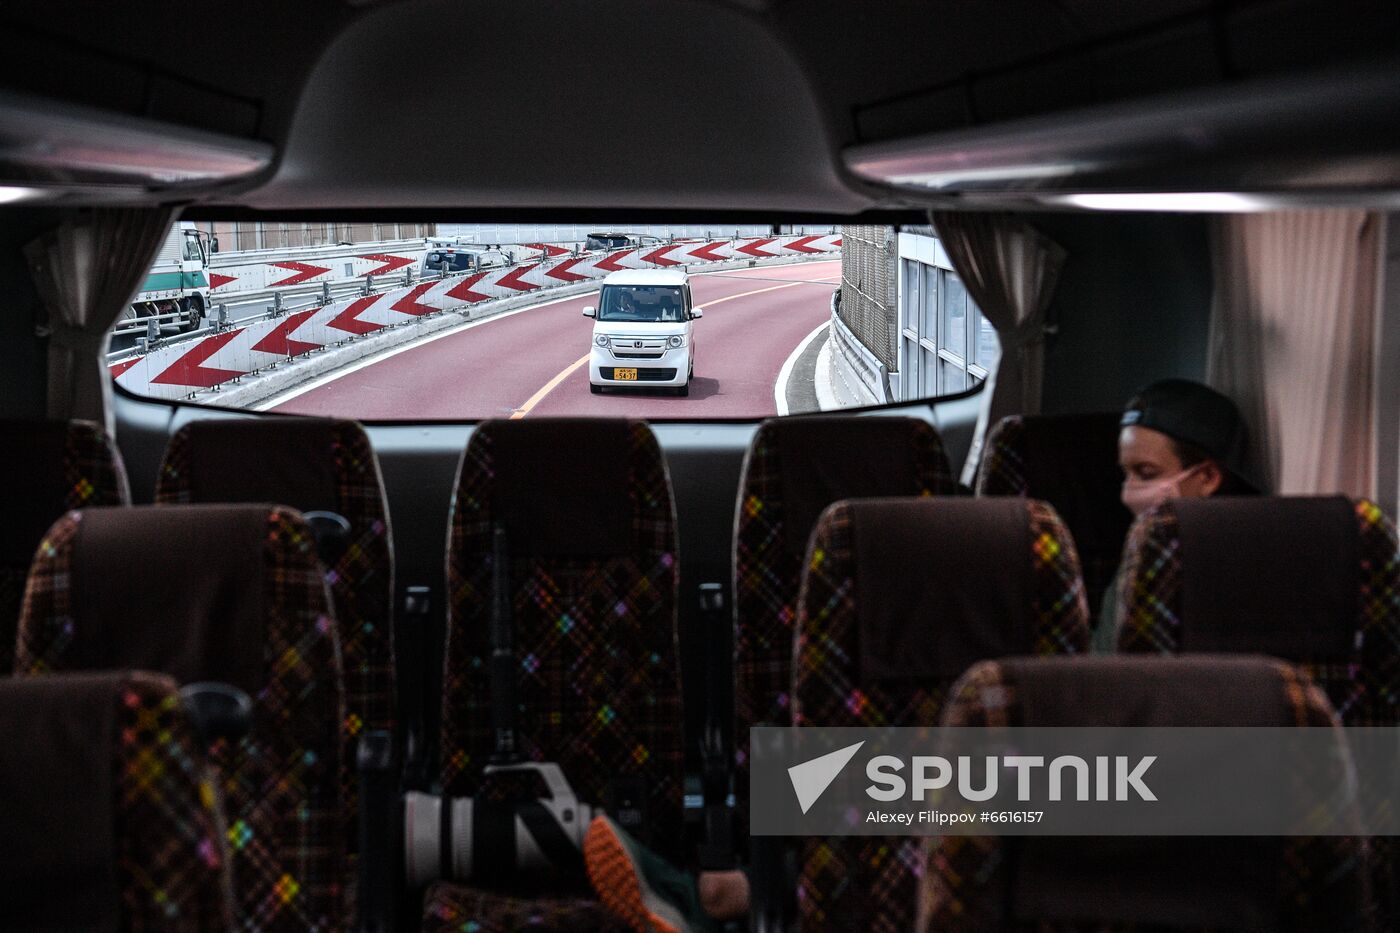
[[[164,207],[76,212],[25,247],[48,312],[50,419],[111,427],[106,332],[140,289],[172,219]]]

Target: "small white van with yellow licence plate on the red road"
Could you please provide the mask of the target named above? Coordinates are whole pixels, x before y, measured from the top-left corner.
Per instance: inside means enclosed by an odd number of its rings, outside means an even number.
[[[589,389],[605,385],[658,385],[690,394],[694,375],[694,321],[701,311],[690,301],[683,270],[627,269],[603,279],[594,318],[594,352],[588,360]]]

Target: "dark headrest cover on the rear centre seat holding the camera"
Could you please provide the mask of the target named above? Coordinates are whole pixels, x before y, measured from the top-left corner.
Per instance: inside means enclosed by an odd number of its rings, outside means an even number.
[[[465,457],[486,464],[493,481],[490,511],[505,525],[512,558],[599,559],[631,552],[637,424],[542,417],[484,422],[472,433]]]

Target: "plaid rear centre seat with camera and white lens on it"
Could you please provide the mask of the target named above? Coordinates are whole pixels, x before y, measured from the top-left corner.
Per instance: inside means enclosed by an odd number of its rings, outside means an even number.
[[[643,422],[484,422],[462,457],[448,552],[441,783],[451,796],[542,796],[483,780],[491,716],[493,539],[505,531],[517,741],[580,801],[680,862],[682,719],[671,479]],[[616,929],[585,892],[508,877],[438,884],[426,930]]]

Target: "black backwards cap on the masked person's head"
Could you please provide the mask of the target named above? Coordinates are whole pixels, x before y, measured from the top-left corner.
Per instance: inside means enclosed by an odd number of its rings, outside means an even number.
[[[1218,462],[1252,492],[1259,486],[1245,469],[1245,419],[1235,402],[1190,380],[1152,382],[1127,403],[1121,427],[1149,427],[1190,444]]]

